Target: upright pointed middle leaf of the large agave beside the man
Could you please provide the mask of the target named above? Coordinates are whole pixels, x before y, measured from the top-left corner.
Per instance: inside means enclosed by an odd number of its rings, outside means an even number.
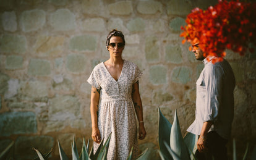
[[[171,146],[171,151],[177,154],[177,156],[180,159],[190,159],[189,151],[187,149],[186,144],[184,143],[184,140],[181,134],[181,127],[179,126],[179,119],[177,117],[177,109],[175,109],[173,126],[171,128],[170,146]],[[174,156],[173,158],[174,160],[176,159]]]

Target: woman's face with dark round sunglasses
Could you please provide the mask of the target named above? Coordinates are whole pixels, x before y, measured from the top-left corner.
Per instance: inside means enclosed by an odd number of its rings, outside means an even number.
[[[122,57],[122,51],[124,50],[124,43],[120,36],[112,36],[109,40],[108,51],[110,56]]]

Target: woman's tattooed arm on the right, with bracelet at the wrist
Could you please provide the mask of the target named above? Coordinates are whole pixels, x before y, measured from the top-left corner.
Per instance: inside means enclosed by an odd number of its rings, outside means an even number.
[[[143,122],[143,109],[142,109],[142,100],[140,99],[139,92],[139,81],[132,85],[132,102],[134,103],[134,109],[139,120],[139,139],[143,140],[146,136],[146,130],[144,128]]]

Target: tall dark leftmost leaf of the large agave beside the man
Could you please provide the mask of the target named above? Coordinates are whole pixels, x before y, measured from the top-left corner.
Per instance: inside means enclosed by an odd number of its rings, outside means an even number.
[[[163,116],[160,108],[158,107],[158,121],[159,121],[159,129],[158,129],[158,141],[160,146],[161,154],[163,155],[164,159],[173,159],[169,154],[168,149],[166,149],[164,145],[164,141],[170,145],[170,133],[171,133],[171,123]]]

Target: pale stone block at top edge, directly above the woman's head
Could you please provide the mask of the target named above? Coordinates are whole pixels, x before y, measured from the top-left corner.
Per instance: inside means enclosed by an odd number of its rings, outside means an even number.
[[[114,15],[132,14],[132,1],[117,1],[108,5],[108,11]]]

